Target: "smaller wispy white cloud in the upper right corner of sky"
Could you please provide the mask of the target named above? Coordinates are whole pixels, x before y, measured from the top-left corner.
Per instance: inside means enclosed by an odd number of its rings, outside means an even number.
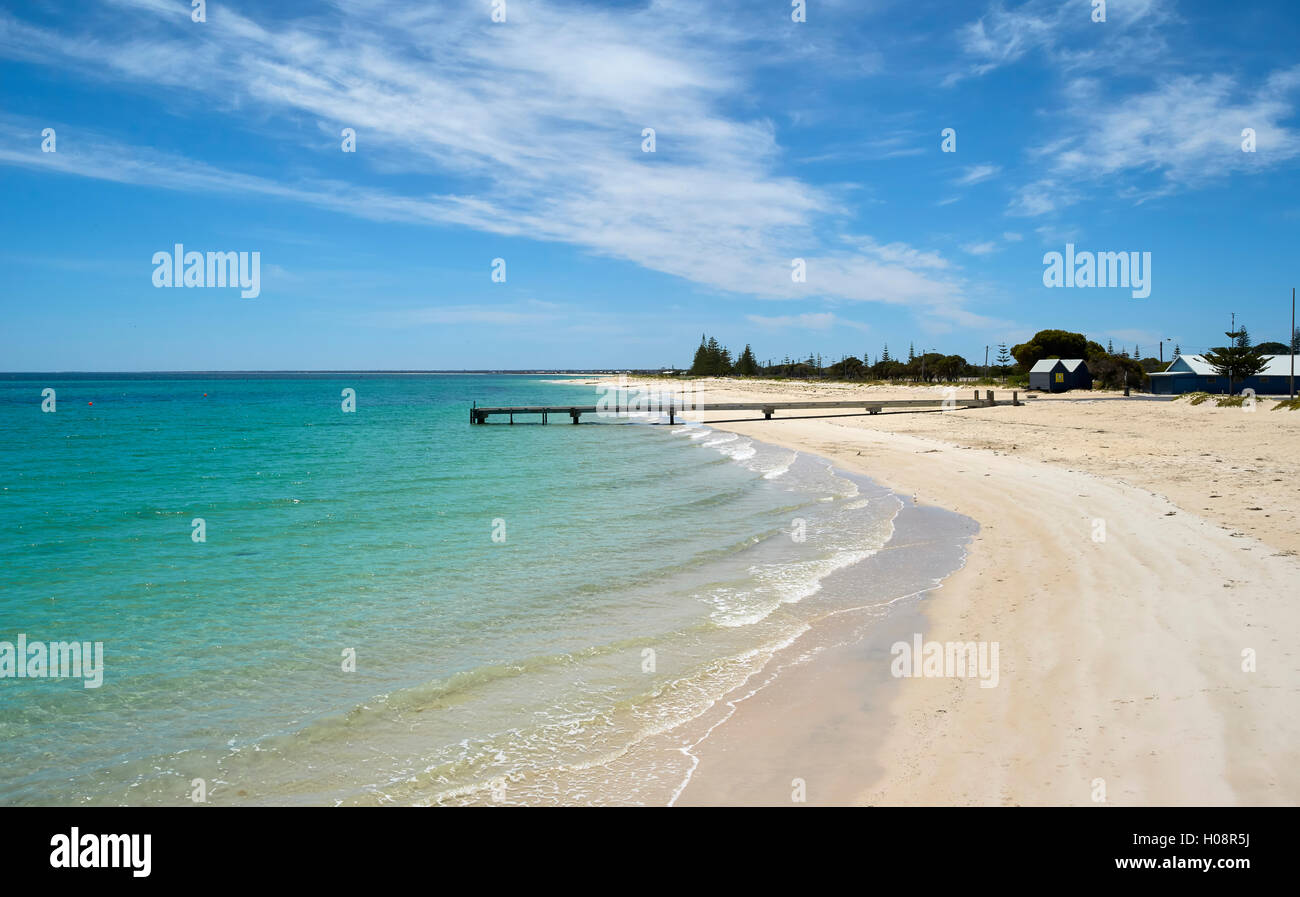
[[[1102,179],[1108,196],[1141,203],[1300,156],[1300,133],[1287,126],[1300,66],[1254,86],[1206,73],[1204,62],[1188,74],[1167,44],[1178,25],[1171,0],[1110,3],[1105,22],[1088,3],[996,0],[958,30],[962,68],[945,83],[1031,58],[1060,83],[1058,103],[1039,110],[1052,136],[1027,152],[1028,178],[1013,188],[1009,214],[1058,212]],[[1256,133],[1253,153],[1242,152],[1245,127]]]

